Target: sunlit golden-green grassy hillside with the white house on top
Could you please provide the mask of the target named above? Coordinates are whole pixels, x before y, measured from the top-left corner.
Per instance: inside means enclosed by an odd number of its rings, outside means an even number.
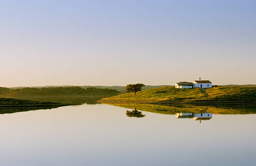
[[[121,94],[100,102],[197,102],[197,101],[256,101],[256,87],[213,87],[176,89],[160,87],[141,92]]]

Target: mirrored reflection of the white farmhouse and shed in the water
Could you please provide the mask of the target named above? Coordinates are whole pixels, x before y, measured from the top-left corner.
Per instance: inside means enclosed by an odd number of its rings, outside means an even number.
[[[210,120],[212,118],[212,113],[176,113],[176,119],[180,118],[193,118],[195,121],[199,120]]]

